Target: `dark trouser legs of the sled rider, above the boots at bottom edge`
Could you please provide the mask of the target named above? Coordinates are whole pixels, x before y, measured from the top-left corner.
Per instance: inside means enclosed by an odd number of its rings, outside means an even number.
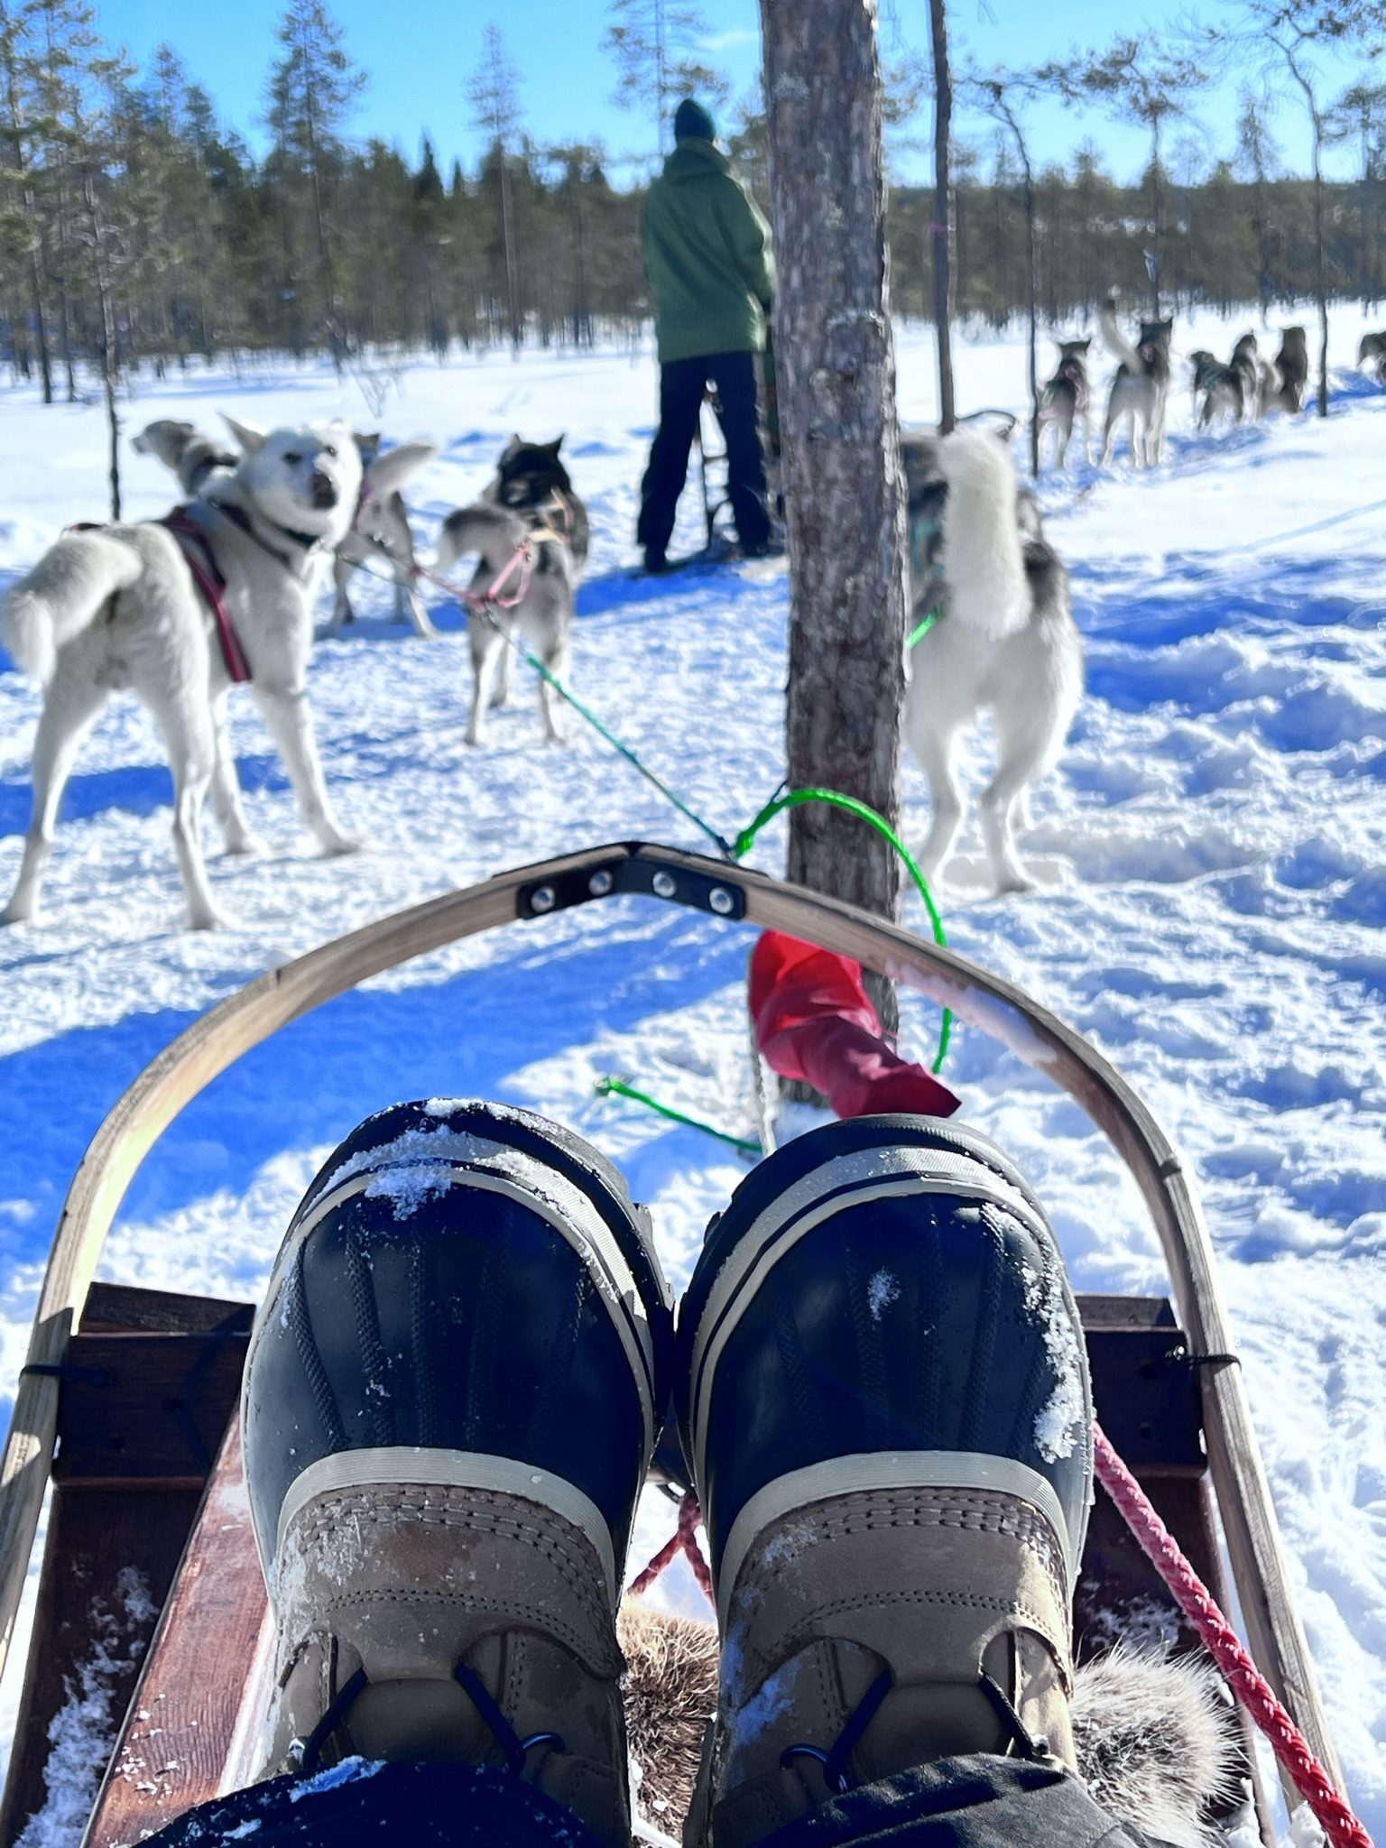
[[[251,1824],[251,1828],[248,1828]],[[275,1778],[218,1796],[161,1830],[150,1848],[597,1848],[551,1796],[503,1770],[366,1765]],[[765,1848],[1148,1848],[1077,1778],[1015,1757],[944,1757],[826,1802]]]

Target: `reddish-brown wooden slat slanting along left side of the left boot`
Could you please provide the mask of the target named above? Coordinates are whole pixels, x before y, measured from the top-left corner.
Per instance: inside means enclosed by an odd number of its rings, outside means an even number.
[[[116,1848],[222,1789],[266,1621],[233,1419],[129,1704],[83,1848]]]

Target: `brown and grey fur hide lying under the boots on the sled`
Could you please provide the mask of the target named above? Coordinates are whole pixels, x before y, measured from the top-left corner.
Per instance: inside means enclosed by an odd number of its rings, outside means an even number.
[[[717,1632],[626,1599],[619,1634],[639,1811],[678,1841],[717,1706]],[[1072,1711],[1079,1770],[1096,1802],[1146,1837],[1207,1848],[1209,1804],[1238,1781],[1231,1706],[1214,1669],[1114,1648],[1079,1667]]]

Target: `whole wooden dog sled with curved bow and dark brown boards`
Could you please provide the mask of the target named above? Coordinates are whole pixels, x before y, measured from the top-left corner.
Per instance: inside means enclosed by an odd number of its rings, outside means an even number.
[[[109,1641],[113,1611],[124,1611],[124,1630],[109,1698],[126,1719],[87,1848],[135,1842],[255,1772],[272,1637],[237,1417],[251,1305],[94,1281],[140,1161],[242,1053],[360,981],[484,930],[625,894],[782,931],[911,985],[1046,1072],[1103,1131],[1159,1233],[1172,1303],[1079,1297],[1098,1417],[1225,1604],[1222,1536],[1251,1654],[1342,1781],[1229,1353],[1209,1233],[1177,1151],[1140,1098],[1081,1035],[952,950],[739,865],[617,843],[445,893],[270,970],[166,1046],[98,1129],[57,1223],[0,1464],[0,1669],[52,1484],[0,1848],[44,1804],[50,1722],[92,1648]],[[1077,1654],[1122,1635],[1201,1647],[1100,1495],[1076,1599]],[[1262,1839],[1273,1842],[1249,1745],[1246,1770]]]

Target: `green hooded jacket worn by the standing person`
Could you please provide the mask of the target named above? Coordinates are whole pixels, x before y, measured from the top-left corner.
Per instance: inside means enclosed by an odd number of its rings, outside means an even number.
[[[710,140],[680,140],[639,222],[660,364],[760,353],[774,294],[771,227]]]

